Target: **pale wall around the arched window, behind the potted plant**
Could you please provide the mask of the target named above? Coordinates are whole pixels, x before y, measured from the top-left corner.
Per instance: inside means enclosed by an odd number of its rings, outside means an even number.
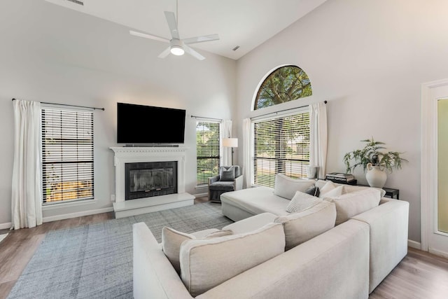
[[[237,62],[238,135],[263,76],[302,67],[313,96],[285,106],[328,100],[327,172],[344,171],[344,153],[372,136],[405,152],[409,162],[386,186],[409,202],[409,239],[420,242],[421,83],[448,78],[447,11],[444,0],[326,1]],[[366,183],[362,170],[355,175]]]

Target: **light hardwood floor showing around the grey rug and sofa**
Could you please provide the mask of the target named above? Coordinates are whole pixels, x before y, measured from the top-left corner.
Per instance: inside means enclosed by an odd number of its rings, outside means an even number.
[[[198,197],[195,203],[204,201],[207,201],[207,197]],[[9,232],[8,237],[0,243],[0,298],[8,296],[47,232],[112,218],[113,213],[103,213],[43,223],[37,228],[0,230],[0,235]],[[377,286],[369,298],[448,298],[448,259],[409,248],[407,256]]]

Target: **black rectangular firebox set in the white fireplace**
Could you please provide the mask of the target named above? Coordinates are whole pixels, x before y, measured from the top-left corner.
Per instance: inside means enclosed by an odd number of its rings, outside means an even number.
[[[177,161],[125,163],[125,200],[177,193]]]

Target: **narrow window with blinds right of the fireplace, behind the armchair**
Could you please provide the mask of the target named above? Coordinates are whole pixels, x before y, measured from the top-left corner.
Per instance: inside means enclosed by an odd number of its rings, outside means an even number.
[[[216,176],[220,162],[220,124],[198,121],[196,124],[197,186],[207,185],[209,177]]]

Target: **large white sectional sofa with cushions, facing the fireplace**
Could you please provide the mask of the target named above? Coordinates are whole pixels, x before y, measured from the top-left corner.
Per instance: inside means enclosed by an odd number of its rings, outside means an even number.
[[[134,224],[134,298],[368,298],[407,254],[407,202],[378,198],[347,218],[338,202],[325,200],[290,214],[290,199],[275,193],[257,187],[221,195],[223,214],[236,221],[221,229],[232,235],[204,237],[217,228],[183,241],[180,274],[164,241]]]

